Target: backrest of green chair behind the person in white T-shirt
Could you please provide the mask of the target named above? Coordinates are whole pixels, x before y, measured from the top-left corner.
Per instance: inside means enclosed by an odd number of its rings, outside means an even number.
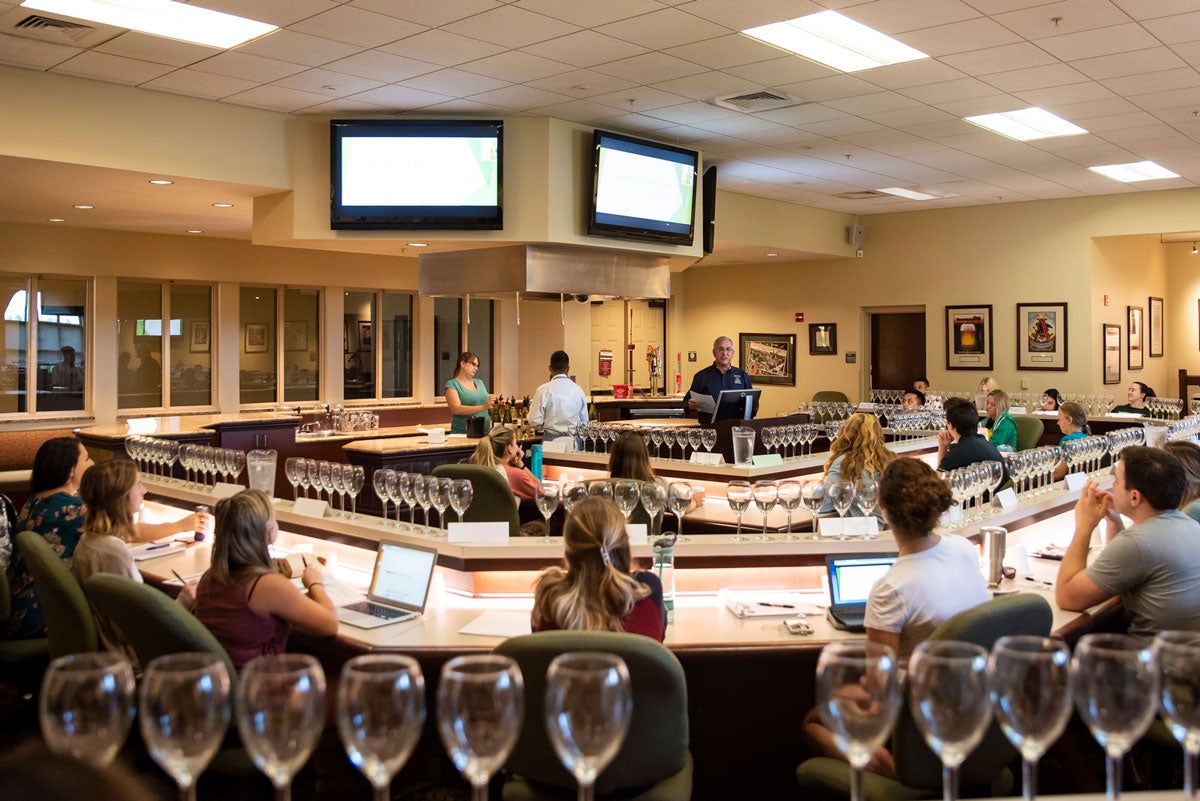
[[[946,620],[929,636],[930,639],[953,639],[973,643],[988,650],[1006,634],[1050,634],[1052,613],[1044,597],[1033,592],[1006,595],[966,609]],[[905,688],[907,694],[907,687]],[[942,763],[925,745],[912,719],[907,698],[896,721],[892,739],[896,773],[908,787],[938,790],[942,787]],[[1016,755],[1000,725],[991,723],[978,747],[959,770],[962,787],[986,787]]]

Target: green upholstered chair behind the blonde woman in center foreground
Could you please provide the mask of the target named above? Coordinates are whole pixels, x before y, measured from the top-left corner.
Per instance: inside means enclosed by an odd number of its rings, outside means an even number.
[[[649,637],[622,632],[553,631],[514,637],[496,648],[516,660],[526,687],[521,737],[509,758],[505,801],[569,801],[575,778],[566,772],[546,735],[546,669],[559,654],[605,651],[629,668],[634,713],[617,758],[596,779],[596,799],[688,801],[688,683],[668,648]]]

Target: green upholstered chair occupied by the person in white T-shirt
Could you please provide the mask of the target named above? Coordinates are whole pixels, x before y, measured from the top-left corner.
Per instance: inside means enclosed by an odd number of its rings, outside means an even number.
[[[960,612],[934,630],[930,639],[953,639],[991,649],[1006,634],[1050,633],[1052,613],[1040,595],[1024,592],[1001,596]],[[907,694],[907,687],[905,688]],[[864,797],[869,801],[937,799],[942,795],[942,763],[925,745],[912,719],[907,699],[892,734],[892,755],[899,781],[864,773]],[[1016,751],[992,722],[983,741],[959,769],[965,796],[1008,795],[1013,775],[1008,765]],[[804,760],[796,777],[806,799],[850,797],[850,766],[840,759],[815,757]]]

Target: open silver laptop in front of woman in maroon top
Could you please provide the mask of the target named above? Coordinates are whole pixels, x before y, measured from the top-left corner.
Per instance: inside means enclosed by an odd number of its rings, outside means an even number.
[[[436,548],[380,541],[366,596],[340,606],[337,619],[359,628],[376,628],[420,616],[437,562]]]

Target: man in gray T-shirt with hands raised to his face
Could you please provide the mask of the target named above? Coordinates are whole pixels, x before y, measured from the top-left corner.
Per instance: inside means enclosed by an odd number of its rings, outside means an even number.
[[[1176,510],[1184,483],[1178,460],[1150,447],[1121,452],[1111,493],[1088,482],[1075,505],[1075,535],[1058,568],[1058,606],[1084,610],[1120,595],[1130,634],[1200,631],[1200,524]],[[1134,525],[1088,566],[1092,531],[1110,511]]]

